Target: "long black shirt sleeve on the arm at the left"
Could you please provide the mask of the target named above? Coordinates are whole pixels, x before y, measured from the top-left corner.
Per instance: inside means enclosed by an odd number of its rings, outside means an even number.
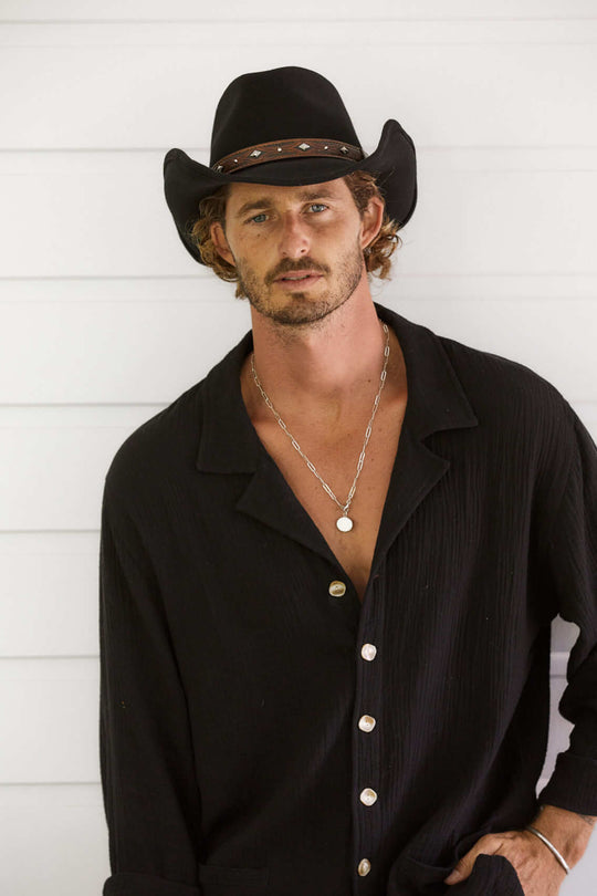
[[[200,896],[200,798],[186,696],[151,563],[106,485],[100,549],[104,896]]]

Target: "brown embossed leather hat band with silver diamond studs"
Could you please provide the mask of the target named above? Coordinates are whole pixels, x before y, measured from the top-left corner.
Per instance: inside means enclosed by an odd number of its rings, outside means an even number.
[[[230,153],[229,156],[219,159],[211,168],[218,174],[231,174],[242,168],[249,168],[251,165],[263,165],[264,162],[301,156],[360,160],[365,158],[365,153],[358,146],[350,146],[350,144],[339,140],[297,137],[293,140],[271,140],[247,146],[244,149]]]

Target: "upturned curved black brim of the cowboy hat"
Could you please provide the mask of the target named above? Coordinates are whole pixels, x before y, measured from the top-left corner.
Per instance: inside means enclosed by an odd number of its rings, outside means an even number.
[[[406,225],[417,205],[417,159],[412,139],[394,118],[384,125],[377,148],[358,162],[307,156],[275,159],[234,174],[219,174],[190,158],[182,149],[170,149],[164,159],[164,192],[185,248],[202,264],[199,250],[188,237],[188,229],[198,218],[201,199],[218,187],[235,183],[307,186],[335,180],[356,170],[376,175],[389,217]]]

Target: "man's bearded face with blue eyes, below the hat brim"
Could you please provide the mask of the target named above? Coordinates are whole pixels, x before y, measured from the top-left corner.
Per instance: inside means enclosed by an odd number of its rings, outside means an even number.
[[[212,239],[255,311],[301,325],[339,308],[366,278],[370,218],[360,218],[342,178],[303,187],[232,184],[226,232],[213,225]]]

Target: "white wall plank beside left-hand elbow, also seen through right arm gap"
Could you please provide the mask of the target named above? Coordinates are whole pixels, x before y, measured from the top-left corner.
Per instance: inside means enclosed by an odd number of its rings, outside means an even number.
[[[0,535],[0,657],[95,657],[100,533]],[[552,674],[564,676],[578,628],[552,626]]]

